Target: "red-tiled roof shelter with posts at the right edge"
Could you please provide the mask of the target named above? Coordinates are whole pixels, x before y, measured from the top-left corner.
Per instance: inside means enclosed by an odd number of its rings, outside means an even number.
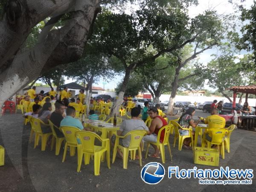
[[[235,108],[236,107],[236,93],[246,93],[245,102],[247,102],[249,94],[256,95],[256,84],[255,85],[247,85],[247,86],[234,86],[234,87],[227,88],[227,90],[233,91],[233,108]]]

